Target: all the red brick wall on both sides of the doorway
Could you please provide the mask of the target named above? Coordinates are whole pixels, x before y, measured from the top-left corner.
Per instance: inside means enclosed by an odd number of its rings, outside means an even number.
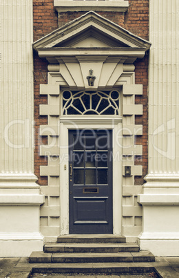
[[[54,0],[34,0],[34,41],[48,35],[48,33],[67,24],[67,22],[84,15],[85,12],[61,12],[54,10]],[[131,33],[148,39],[149,29],[149,0],[129,0],[129,8],[123,12],[98,12],[99,15],[126,28]],[[47,97],[39,95],[39,84],[47,83],[48,62],[39,59],[34,53],[34,120],[35,120],[35,151],[34,169],[38,176],[39,185],[47,185],[46,177],[39,176],[39,166],[47,165],[45,157],[39,156],[41,142],[47,144],[47,138],[41,138],[38,134],[39,125],[47,124],[47,117],[39,115],[39,104],[47,104]],[[148,56],[138,59],[136,66],[136,84],[143,84],[143,95],[136,96],[136,104],[143,104],[143,116],[136,116],[136,124],[143,124],[143,136],[136,136],[136,144],[143,145],[143,157],[136,157],[136,165],[143,165],[143,176],[147,174],[147,85],[148,85]],[[135,184],[143,184],[143,177],[136,177]]]

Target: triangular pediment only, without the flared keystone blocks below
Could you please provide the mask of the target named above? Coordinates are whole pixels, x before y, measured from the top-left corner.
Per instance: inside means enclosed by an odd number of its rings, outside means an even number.
[[[138,48],[148,50],[148,41],[137,37],[96,12],[87,12],[70,23],[54,30],[33,44],[45,48]]]

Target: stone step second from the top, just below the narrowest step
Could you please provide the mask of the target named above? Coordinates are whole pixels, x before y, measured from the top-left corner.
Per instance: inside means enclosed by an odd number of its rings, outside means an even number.
[[[44,252],[138,252],[137,243],[47,243]]]

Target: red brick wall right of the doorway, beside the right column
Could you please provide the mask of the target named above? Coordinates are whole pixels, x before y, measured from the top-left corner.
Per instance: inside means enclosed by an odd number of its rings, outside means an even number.
[[[125,15],[125,28],[143,39],[149,39],[149,0],[129,0]],[[143,124],[143,136],[136,136],[136,145],[143,145],[143,156],[136,157],[135,165],[143,165],[143,176],[135,177],[135,185],[144,183],[148,169],[148,65],[149,56],[137,59],[135,64],[136,84],[143,84],[143,95],[136,95],[136,104],[143,104],[143,116],[136,116],[136,124]]]

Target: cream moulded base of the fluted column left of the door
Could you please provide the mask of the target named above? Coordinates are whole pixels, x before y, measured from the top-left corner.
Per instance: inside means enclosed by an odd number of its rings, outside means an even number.
[[[34,176],[0,177],[0,257],[27,257],[43,250],[39,232],[44,196]]]

